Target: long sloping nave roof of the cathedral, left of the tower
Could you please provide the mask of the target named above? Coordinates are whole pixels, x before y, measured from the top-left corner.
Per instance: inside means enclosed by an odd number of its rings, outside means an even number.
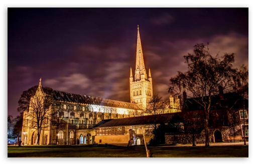
[[[67,101],[67,102],[75,102],[75,103],[142,110],[142,108],[136,103],[117,101],[117,100],[94,97],[94,96],[83,95],[83,94],[75,94],[75,93],[59,91],[59,90],[53,90],[53,99],[57,101]]]

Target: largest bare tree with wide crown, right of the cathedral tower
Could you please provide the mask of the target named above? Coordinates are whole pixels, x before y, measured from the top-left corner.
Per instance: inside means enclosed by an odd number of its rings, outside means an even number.
[[[229,89],[233,86],[232,69],[234,53],[225,53],[222,57],[212,56],[207,47],[201,43],[194,46],[194,53],[184,56],[188,71],[180,72],[170,79],[171,93],[188,92],[188,97],[204,109],[205,146],[209,146],[209,112],[212,107],[211,99],[218,93],[218,87]]]

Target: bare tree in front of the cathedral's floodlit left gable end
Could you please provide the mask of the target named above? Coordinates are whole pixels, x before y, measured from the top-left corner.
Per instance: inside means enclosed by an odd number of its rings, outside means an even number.
[[[39,144],[41,130],[51,129],[56,123],[57,106],[58,102],[53,99],[53,89],[42,87],[41,83],[23,92],[18,111],[24,111],[26,124],[23,126],[37,131],[36,144]]]

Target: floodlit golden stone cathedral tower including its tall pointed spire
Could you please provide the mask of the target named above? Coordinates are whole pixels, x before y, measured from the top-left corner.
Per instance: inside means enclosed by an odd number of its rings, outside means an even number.
[[[136,47],[136,65],[135,74],[130,71],[130,97],[132,103],[138,103],[143,109],[146,109],[148,102],[153,96],[152,77],[149,69],[149,75],[147,75],[143,51],[141,36],[138,25],[137,34],[137,47]]]

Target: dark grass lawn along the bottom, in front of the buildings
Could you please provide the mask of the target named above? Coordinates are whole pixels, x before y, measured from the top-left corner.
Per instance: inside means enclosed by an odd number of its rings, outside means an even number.
[[[248,157],[248,145],[148,146],[151,157]],[[146,157],[145,146],[8,146],[8,157]]]

